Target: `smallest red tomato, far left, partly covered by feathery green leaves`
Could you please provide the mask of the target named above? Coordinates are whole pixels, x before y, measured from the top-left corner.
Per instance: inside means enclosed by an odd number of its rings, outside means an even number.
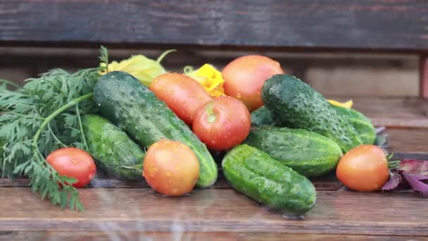
[[[46,161],[59,175],[76,178],[73,187],[86,186],[96,173],[94,159],[82,149],[65,147],[57,149],[46,157]]]

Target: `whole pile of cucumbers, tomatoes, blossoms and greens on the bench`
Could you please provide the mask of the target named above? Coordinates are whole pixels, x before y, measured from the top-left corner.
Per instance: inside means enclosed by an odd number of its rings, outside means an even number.
[[[160,61],[170,52],[109,63],[101,47],[99,68],[50,70],[22,88],[1,80],[2,177],[27,176],[42,199],[81,211],[77,187],[97,168],[178,196],[215,183],[215,151],[227,152],[222,171],[235,190],[287,214],[309,211],[308,178],[334,170],[353,190],[407,180],[427,192],[426,165],[415,173],[403,161],[389,178],[376,130],[352,102],[327,101],[265,56],[168,73]]]

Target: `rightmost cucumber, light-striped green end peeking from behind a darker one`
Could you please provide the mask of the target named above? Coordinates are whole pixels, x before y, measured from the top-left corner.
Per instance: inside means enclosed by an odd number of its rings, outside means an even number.
[[[373,144],[376,139],[376,129],[372,121],[365,117],[363,113],[340,106],[333,106],[337,112],[343,116],[346,121],[351,123],[355,131],[360,135],[360,140],[363,144]]]

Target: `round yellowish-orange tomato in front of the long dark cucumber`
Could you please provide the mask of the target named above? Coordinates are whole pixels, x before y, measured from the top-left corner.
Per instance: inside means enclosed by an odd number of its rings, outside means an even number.
[[[181,142],[160,140],[147,150],[143,176],[149,186],[167,196],[191,192],[199,178],[199,161]]]

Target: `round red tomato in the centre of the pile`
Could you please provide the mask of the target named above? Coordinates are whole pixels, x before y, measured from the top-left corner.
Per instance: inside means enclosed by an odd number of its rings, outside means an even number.
[[[199,109],[193,131],[210,149],[230,149],[245,140],[251,128],[246,106],[232,97],[219,97]]]

